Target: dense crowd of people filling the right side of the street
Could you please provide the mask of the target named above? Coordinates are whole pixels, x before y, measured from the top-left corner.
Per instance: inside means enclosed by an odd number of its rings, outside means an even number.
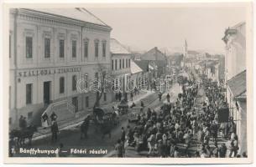
[[[196,75],[190,73],[189,78],[178,79],[182,92],[174,104],[170,104],[169,95],[166,97],[169,99],[168,103],[164,104],[159,112],[147,109],[146,112],[139,114],[137,124],[134,127],[128,125],[125,139],[122,131],[122,139],[118,139],[118,147],[116,147],[118,157],[125,155],[126,142],[138,152],[149,150],[148,156],[175,158],[237,156],[238,136],[235,134],[233,121],[229,121],[227,125],[227,138],[230,139],[231,144],[228,148],[225,143],[218,144],[220,124],[217,111],[224,101],[221,91],[213,89],[215,85],[212,88],[212,85],[209,85],[211,81]],[[200,88],[205,90],[206,98],[199,93]],[[192,146],[196,149],[191,149]]]

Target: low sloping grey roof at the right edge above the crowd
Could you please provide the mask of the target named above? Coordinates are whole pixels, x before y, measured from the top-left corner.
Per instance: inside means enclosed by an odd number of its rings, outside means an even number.
[[[246,70],[229,79],[227,86],[234,98],[246,92]]]

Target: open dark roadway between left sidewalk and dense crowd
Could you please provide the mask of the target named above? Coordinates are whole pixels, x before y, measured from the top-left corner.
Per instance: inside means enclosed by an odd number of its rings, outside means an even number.
[[[179,94],[180,87],[178,83],[175,83],[173,87],[170,89],[170,102],[174,101],[177,98],[177,94]],[[145,108],[154,109],[155,111],[159,111],[159,107],[163,104],[163,101],[166,101],[166,94],[163,95],[162,101],[159,102],[157,93],[150,94],[150,97],[142,99],[145,103]],[[152,100],[149,100],[152,99]],[[102,134],[99,134],[95,131],[93,125],[88,130],[88,139],[80,139],[80,126],[76,126],[71,129],[64,129],[60,131],[58,135],[58,142],[55,144],[51,143],[51,136],[45,139],[38,139],[33,142],[34,149],[56,149],[59,147],[59,144],[64,144],[64,150],[67,150],[66,153],[70,156],[71,149],[107,149],[107,153],[111,153],[114,149],[114,144],[116,144],[117,140],[120,138],[121,127],[126,128],[128,126],[128,114],[124,114],[120,117],[120,124],[118,124],[114,129],[112,129],[112,137],[109,139],[106,135],[104,139],[102,139]],[[131,124],[133,126],[133,124]],[[24,149],[31,149],[30,147],[24,146]],[[73,154],[72,156],[88,156],[88,157],[102,157],[106,154]],[[15,154],[15,156],[55,156],[55,154]]]

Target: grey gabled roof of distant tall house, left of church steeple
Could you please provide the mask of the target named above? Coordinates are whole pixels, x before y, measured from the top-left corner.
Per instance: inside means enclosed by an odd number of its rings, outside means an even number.
[[[163,60],[166,61],[166,56],[164,53],[159,51],[157,47],[151,48],[147,53],[144,53],[141,57],[144,60]]]

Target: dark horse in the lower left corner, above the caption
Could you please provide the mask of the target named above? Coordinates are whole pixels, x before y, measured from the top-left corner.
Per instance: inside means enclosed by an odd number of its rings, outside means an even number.
[[[10,138],[17,138],[17,142],[19,145],[25,144],[25,139],[29,139],[28,145],[32,145],[32,137],[34,132],[37,131],[37,127],[35,125],[30,125],[26,129],[13,129],[10,132]]]

